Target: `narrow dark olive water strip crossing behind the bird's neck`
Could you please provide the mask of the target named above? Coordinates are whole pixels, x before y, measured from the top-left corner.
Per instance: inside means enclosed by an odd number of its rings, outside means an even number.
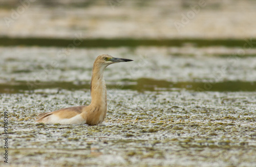
[[[140,78],[137,80],[108,82],[108,89],[144,91],[217,91],[217,92],[238,92],[256,90],[256,82],[253,81],[223,81],[223,82],[170,82],[166,80],[155,80],[151,78]],[[89,82],[40,82],[34,85],[30,82],[14,82],[13,84],[0,84],[0,93],[25,93],[33,92],[34,89],[58,90],[87,90],[90,91]]]

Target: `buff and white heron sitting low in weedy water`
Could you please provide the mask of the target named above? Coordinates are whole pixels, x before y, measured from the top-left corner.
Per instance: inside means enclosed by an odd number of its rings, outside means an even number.
[[[114,58],[109,54],[100,54],[94,61],[91,79],[91,103],[61,108],[54,112],[41,113],[36,122],[63,125],[98,125],[106,117],[108,108],[106,97],[106,84],[103,76],[104,69],[115,63],[130,62],[133,60]]]

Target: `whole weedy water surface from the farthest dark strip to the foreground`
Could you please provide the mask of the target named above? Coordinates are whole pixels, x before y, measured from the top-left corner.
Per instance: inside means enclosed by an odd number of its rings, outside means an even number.
[[[0,48],[12,166],[255,166],[256,49],[239,57],[236,47],[76,48],[61,57],[63,49]],[[134,60],[104,72],[103,124],[35,123],[90,103],[100,53]]]

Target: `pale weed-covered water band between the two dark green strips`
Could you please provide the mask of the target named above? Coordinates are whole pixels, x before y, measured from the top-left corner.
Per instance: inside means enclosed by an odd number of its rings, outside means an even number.
[[[170,82],[253,82],[256,49],[237,47],[0,47],[0,81],[90,83],[97,55],[108,53],[134,62],[116,64],[105,70],[107,83],[152,78]],[[18,57],[17,57],[18,55]]]

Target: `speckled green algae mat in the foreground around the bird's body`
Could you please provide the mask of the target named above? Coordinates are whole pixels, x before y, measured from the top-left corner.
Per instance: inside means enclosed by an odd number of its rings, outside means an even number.
[[[254,92],[108,93],[109,112],[99,126],[34,122],[38,113],[89,104],[89,91],[1,94],[1,115],[7,111],[9,117],[10,166],[256,164]]]

